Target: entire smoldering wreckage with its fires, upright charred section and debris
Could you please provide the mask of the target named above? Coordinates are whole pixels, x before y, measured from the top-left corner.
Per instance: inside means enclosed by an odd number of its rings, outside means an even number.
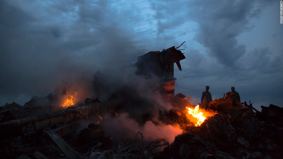
[[[77,92],[70,94],[64,88],[45,97],[34,96],[23,106],[6,103],[0,107],[1,158],[282,158],[283,108],[261,106],[260,112],[251,103],[235,104],[227,93],[204,109],[202,104],[189,103],[181,93],[175,95],[174,63],[181,70],[180,60],[185,59],[179,48],[148,52],[129,66],[136,68],[140,78],[157,79],[154,93],[170,103],[170,110],[159,109],[158,116],[153,116],[150,108],[161,103],[146,99],[130,86],[123,86],[104,102],[86,98],[84,103],[76,103]],[[103,85],[101,74],[94,75],[96,88]],[[101,90],[95,91],[98,94]],[[158,118],[163,125],[177,126],[182,133],[174,142],[169,143],[163,136],[145,139],[156,132],[142,131],[132,132],[132,137],[119,142],[101,128],[106,113],[115,119],[130,107],[128,111],[145,105],[148,109],[132,118],[140,125],[147,121],[158,125],[153,120]],[[89,123],[85,126],[84,122]]]

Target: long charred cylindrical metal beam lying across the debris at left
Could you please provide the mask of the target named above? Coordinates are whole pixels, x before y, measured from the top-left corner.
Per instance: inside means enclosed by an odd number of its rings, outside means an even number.
[[[46,127],[57,128],[58,125],[66,125],[77,120],[87,119],[89,116],[100,113],[102,109],[115,108],[122,103],[122,99],[113,99],[105,103],[87,103],[81,107],[70,107],[50,114],[46,113],[42,116],[29,116],[3,122],[0,123],[0,138],[30,134],[36,131],[42,131]]]

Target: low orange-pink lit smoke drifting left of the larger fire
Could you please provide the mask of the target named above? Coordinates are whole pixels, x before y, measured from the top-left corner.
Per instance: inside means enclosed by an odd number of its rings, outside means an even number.
[[[182,133],[179,126],[166,125],[161,122],[147,121],[144,125],[140,125],[136,120],[130,118],[129,113],[118,114],[116,118],[106,115],[101,126],[103,130],[107,130],[105,135],[113,137],[114,141],[135,139],[137,133],[141,132],[145,141],[165,139],[172,143],[175,137]],[[137,139],[142,140],[139,134]]]

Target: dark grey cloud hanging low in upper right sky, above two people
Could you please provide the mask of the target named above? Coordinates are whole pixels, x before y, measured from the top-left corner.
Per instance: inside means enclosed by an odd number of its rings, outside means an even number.
[[[245,45],[239,45],[236,37],[251,27],[249,18],[260,15],[264,6],[258,1],[194,1],[189,12],[198,22],[199,32],[195,39],[211,50],[219,62],[233,67],[245,54]],[[190,6],[188,5],[188,6]]]

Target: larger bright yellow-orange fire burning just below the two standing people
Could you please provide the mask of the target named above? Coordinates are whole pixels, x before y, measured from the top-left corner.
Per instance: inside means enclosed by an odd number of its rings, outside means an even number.
[[[188,109],[188,114],[189,116],[187,116],[192,122],[196,123],[195,126],[200,126],[204,120],[206,119],[207,116],[214,116],[216,114],[216,112],[205,112],[202,111],[201,109],[199,109],[199,105],[197,105],[195,107],[195,109],[191,109],[189,107],[186,107]],[[204,115],[204,113],[206,113],[206,115]],[[191,117],[191,116],[192,117]]]

